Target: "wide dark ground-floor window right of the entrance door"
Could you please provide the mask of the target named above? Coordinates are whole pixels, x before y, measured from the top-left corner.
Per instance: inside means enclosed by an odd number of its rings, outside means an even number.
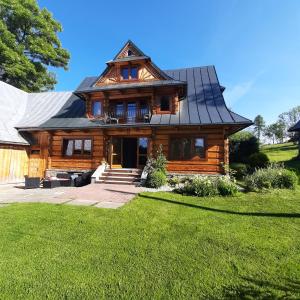
[[[170,160],[190,160],[195,157],[206,158],[205,139],[203,137],[170,138]]]

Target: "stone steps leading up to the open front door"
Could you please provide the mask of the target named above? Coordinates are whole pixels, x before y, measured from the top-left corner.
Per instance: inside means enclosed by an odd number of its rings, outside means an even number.
[[[111,169],[107,168],[96,183],[108,184],[136,184],[140,182],[142,170],[140,169]]]

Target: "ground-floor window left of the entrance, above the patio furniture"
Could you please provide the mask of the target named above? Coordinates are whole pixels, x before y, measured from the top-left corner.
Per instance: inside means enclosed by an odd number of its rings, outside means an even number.
[[[63,139],[62,154],[66,157],[91,156],[92,139]]]

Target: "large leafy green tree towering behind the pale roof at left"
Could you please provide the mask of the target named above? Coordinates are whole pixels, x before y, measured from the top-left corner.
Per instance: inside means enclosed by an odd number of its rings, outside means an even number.
[[[61,31],[36,0],[0,0],[0,80],[30,92],[53,89],[48,67],[67,69],[70,58],[57,36]]]

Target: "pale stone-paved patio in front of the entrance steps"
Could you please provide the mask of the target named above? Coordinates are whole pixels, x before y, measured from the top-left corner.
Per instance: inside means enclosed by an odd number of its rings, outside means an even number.
[[[24,189],[24,184],[0,185],[0,207],[10,203],[52,203],[119,208],[129,202],[141,187],[133,185],[90,184],[84,187]]]

